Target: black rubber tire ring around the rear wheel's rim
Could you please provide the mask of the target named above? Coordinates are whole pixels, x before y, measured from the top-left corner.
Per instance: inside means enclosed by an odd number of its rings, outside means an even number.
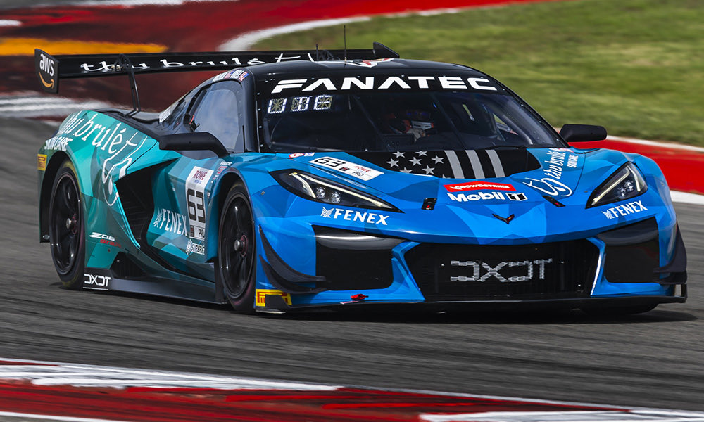
[[[56,257],[54,256],[54,236],[56,236],[56,230],[54,229],[54,200],[56,198],[56,188],[64,177],[71,177],[73,183],[77,189],[78,193],[78,212],[79,215],[79,229],[78,229],[78,248],[76,250],[76,260],[73,262],[73,267],[66,274],[61,274],[56,268],[56,274],[58,274],[59,279],[63,287],[70,288],[73,290],[81,290],[83,288],[83,277],[85,271],[85,222],[84,222],[84,210],[83,210],[83,196],[81,193],[80,185],[78,184],[78,177],[76,175],[75,167],[73,163],[66,160],[63,162],[56,177],[54,177],[54,182],[51,186],[51,199],[49,200],[49,242],[51,249],[51,262],[54,262],[54,267],[56,267]]]

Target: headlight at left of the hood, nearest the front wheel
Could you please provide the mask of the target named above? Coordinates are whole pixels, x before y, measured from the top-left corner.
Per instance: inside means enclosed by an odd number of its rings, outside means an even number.
[[[384,200],[358,191],[350,186],[315,176],[301,170],[281,170],[270,173],[287,191],[316,202],[401,212]]]

